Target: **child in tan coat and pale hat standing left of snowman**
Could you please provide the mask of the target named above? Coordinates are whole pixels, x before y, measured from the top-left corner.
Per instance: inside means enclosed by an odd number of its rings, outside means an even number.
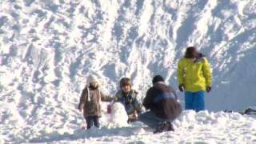
[[[87,129],[91,126],[99,127],[99,118],[101,114],[101,102],[110,102],[114,98],[102,94],[99,90],[98,79],[94,75],[87,78],[87,85],[82,90],[82,95],[78,105],[78,110],[83,110],[84,118],[86,118]]]

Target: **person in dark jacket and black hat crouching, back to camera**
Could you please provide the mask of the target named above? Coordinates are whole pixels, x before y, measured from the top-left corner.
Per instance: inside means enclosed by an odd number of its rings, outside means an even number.
[[[155,128],[154,133],[174,131],[172,123],[182,112],[182,106],[177,101],[174,90],[167,86],[161,75],[156,75],[153,86],[146,92],[143,106],[150,110],[141,115],[140,121]]]

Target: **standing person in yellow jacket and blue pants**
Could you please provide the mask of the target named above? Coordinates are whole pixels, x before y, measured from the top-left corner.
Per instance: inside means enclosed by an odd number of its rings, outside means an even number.
[[[211,90],[210,64],[201,53],[190,46],[178,62],[178,89],[185,90],[186,110],[205,110],[205,91]]]

